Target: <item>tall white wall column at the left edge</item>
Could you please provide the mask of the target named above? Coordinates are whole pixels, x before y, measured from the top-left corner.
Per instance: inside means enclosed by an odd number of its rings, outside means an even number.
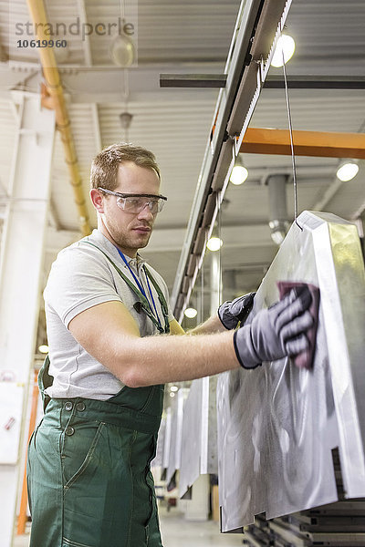
[[[26,398],[36,344],[55,113],[19,92],[18,130],[0,261],[0,545],[10,547],[23,468]],[[3,424],[7,424],[5,428]]]

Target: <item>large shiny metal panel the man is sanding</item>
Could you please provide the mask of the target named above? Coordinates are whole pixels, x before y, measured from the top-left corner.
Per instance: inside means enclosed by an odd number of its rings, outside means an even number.
[[[217,386],[222,532],[365,496],[365,274],[356,227],[302,212],[255,296],[249,323],[278,300],[277,281],[315,284],[319,323],[312,370],[282,359],[220,375]]]

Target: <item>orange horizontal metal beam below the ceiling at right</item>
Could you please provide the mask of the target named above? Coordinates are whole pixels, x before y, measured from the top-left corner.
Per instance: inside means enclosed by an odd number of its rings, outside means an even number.
[[[293,131],[293,141],[297,156],[365,159],[364,133]],[[240,151],[290,156],[289,132],[287,129],[249,128],[245,132]]]

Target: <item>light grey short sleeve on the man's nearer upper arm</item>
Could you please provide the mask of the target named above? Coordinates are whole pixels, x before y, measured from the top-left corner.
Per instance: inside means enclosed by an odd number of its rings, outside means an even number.
[[[121,302],[107,259],[91,245],[75,245],[58,253],[44,298],[46,306],[66,327],[76,315],[94,305]]]

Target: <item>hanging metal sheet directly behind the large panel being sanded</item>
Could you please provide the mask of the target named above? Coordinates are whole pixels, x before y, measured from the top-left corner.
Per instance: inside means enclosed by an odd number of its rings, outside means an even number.
[[[217,377],[194,380],[185,402],[180,497],[199,475],[218,473],[216,384]]]

